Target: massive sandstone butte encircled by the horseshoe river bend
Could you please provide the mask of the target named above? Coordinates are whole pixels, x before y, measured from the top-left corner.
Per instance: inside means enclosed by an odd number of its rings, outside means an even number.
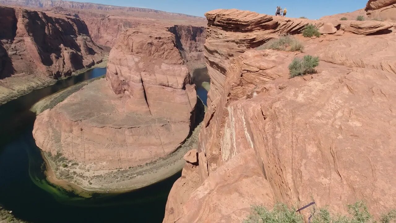
[[[88,84],[38,115],[33,136],[58,166],[57,178],[70,181],[62,173],[76,171],[73,182],[84,188],[119,190],[112,180],[114,170],[128,173],[166,161],[185,142],[195,126],[197,97],[176,40],[163,27],[122,32],[110,51],[106,80]],[[59,156],[80,170],[59,167]],[[96,178],[92,171],[103,180],[84,181]]]

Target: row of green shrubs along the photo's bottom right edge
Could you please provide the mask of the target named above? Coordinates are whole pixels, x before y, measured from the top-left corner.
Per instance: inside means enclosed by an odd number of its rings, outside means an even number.
[[[328,207],[316,210],[312,206],[312,223],[377,223],[369,213],[364,201],[346,206],[348,215],[331,214]],[[253,214],[247,216],[244,223],[304,223],[303,216],[296,212],[297,208],[288,208],[285,204],[277,203],[270,211],[263,206],[252,206]],[[379,223],[392,223],[396,220],[396,210],[381,215]]]

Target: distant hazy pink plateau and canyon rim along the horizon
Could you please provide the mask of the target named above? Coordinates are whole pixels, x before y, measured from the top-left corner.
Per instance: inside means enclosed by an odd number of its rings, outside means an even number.
[[[129,28],[139,26],[171,27],[175,24],[194,25],[197,27],[206,25],[206,20],[202,17],[147,8],[51,0],[0,0],[0,4],[19,5],[65,15],[77,15],[87,24],[93,41],[108,47],[114,46],[118,35]]]

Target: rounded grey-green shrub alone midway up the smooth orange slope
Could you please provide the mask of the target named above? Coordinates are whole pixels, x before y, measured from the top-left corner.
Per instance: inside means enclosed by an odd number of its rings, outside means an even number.
[[[315,73],[315,67],[319,65],[319,58],[305,55],[303,59],[294,58],[289,64],[290,78]]]

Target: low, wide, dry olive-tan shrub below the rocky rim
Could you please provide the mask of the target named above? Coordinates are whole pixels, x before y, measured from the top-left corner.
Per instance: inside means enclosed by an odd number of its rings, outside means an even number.
[[[284,50],[284,51],[303,51],[304,45],[295,37],[290,35],[280,36],[278,39],[272,39],[265,44],[256,48],[256,50]]]

